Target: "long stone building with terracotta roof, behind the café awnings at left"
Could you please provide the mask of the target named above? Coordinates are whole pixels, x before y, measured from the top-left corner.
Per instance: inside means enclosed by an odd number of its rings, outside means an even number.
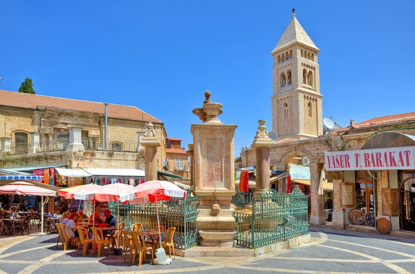
[[[144,170],[140,139],[151,121],[166,158],[162,121],[133,106],[105,104],[0,90],[0,167],[60,164]],[[75,142],[75,145],[74,145]]]

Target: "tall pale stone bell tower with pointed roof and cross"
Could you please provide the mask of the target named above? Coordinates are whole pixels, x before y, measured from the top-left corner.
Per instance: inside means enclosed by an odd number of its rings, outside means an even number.
[[[280,138],[308,139],[323,134],[318,52],[293,9],[293,18],[271,52],[273,131]]]

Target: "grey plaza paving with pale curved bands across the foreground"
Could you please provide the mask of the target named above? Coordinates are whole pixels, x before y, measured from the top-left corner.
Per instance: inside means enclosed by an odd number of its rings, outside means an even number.
[[[76,256],[56,235],[0,239],[1,273],[415,273],[415,238],[312,228],[312,242],[259,257],[176,257],[131,266],[123,256]],[[96,256],[96,255],[95,255]]]

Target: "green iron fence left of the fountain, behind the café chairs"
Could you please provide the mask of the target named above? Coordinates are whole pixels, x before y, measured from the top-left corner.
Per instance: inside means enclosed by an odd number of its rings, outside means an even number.
[[[158,203],[158,215],[160,225],[175,227],[174,246],[187,249],[199,242],[199,233],[196,228],[199,197],[174,198]],[[117,217],[117,203],[109,202],[109,209],[114,217]],[[156,204],[120,204],[120,222],[125,222],[129,229],[132,224],[141,223],[141,231],[154,230],[157,226]],[[162,235],[162,241],[164,235]]]

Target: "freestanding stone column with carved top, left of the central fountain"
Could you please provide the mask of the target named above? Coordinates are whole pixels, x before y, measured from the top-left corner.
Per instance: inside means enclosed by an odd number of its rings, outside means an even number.
[[[158,141],[154,125],[147,124],[145,133],[141,139],[142,146],[144,146],[144,162],[145,162],[145,182],[157,179],[157,148],[161,146]]]

